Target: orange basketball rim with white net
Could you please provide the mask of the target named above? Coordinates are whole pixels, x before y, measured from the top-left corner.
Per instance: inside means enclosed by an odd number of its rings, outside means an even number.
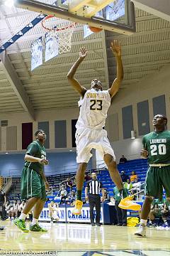
[[[72,48],[72,33],[76,23],[73,21],[62,20],[52,15],[48,15],[42,21],[42,28],[47,33],[58,39],[59,54],[67,53]]]

